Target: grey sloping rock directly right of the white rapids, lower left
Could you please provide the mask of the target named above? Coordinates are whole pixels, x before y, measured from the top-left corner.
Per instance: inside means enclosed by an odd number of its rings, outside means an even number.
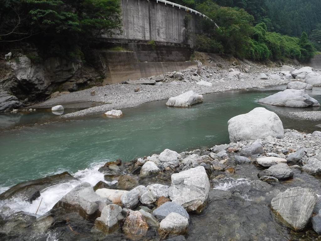
[[[99,216],[108,204],[111,202],[97,195],[90,183],[82,183],[63,196],[54,207],[77,211],[85,218],[93,218]]]

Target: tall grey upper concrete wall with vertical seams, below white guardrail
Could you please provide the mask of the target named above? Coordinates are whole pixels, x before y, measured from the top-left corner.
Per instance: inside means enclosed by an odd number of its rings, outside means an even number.
[[[201,16],[156,1],[121,0],[121,5],[123,32],[119,35],[115,33],[113,39],[185,43],[191,47],[195,45]],[[190,17],[186,18],[186,15]]]

